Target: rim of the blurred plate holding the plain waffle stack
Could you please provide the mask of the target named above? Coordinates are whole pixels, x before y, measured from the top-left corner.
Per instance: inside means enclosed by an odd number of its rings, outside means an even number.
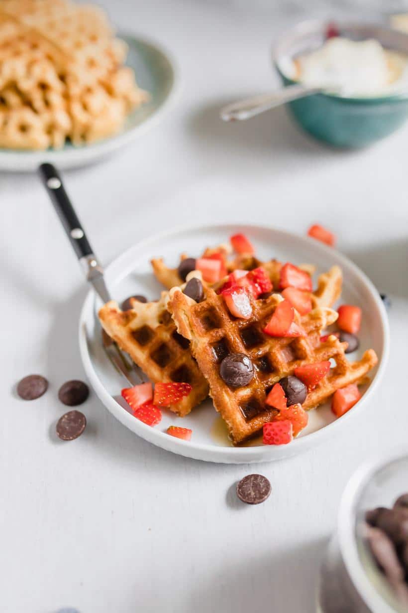
[[[138,36],[136,33],[122,30],[117,31],[116,36],[124,39],[127,44],[129,39],[133,39],[137,43],[152,47],[168,61],[172,75],[171,88],[161,105],[136,126],[81,148],[74,147],[68,150],[62,148],[46,151],[0,149],[0,170],[3,172],[35,172],[42,162],[51,162],[62,170],[75,169],[83,164],[96,164],[101,159],[109,156],[109,154],[114,153],[114,151],[126,147],[128,143],[136,138],[136,135],[143,135],[144,132],[154,126],[155,123],[158,123],[163,115],[171,109],[180,91],[180,70],[175,56],[168,48],[150,37]]]

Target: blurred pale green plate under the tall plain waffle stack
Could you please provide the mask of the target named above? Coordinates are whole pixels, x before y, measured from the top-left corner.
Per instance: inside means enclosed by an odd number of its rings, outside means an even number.
[[[127,66],[135,71],[136,81],[150,94],[150,99],[128,115],[122,132],[91,145],[75,147],[67,143],[62,149],[47,151],[17,151],[0,149],[0,170],[32,172],[43,162],[69,169],[93,164],[117,151],[143,134],[163,115],[174,92],[176,69],[168,51],[155,43],[125,34],[118,34],[128,45]]]

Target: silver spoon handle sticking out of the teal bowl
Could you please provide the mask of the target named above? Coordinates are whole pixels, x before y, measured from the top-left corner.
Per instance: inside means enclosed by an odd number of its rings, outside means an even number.
[[[232,102],[220,111],[220,117],[224,121],[245,120],[259,115],[273,107],[278,107],[286,102],[291,102],[304,96],[311,96],[321,92],[321,88],[305,87],[304,85],[289,85],[269,94],[260,94],[245,98],[238,102]]]

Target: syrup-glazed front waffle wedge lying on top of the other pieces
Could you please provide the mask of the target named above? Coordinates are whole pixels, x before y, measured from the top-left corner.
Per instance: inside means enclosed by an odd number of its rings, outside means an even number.
[[[336,362],[306,397],[303,407],[311,409],[325,402],[339,387],[363,381],[377,362],[370,349],[362,360],[350,364],[344,356],[347,343],[340,343],[334,335],[321,343],[322,329],[337,319],[337,313],[327,307],[317,307],[303,318],[295,312],[295,321],[302,325],[306,337],[265,335],[262,329],[281,300],[278,294],[251,300],[253,314],[243,320],[232,317],[223,297],[211,288],[206,289],[201,303],[195,303],[178,287],[169,292],[168,310],[178,332],[191,341],[191,352],[209,382],[214,406],[228,425],[234,444],[256,436],[265,422],[273,419],[275,411],[265,405],[265,398],[273,384],[292,375],[295,368],[331,358]],[[226,355],[236,352],[250,357],[255,374],[248,386],[231,389],[221,379],[219,365]]]

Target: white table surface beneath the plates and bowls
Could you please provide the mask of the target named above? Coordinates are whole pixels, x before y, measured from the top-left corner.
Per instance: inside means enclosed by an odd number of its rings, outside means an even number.
[[[177,457],[139,440],[95,394],[83,405],[86,433],[56,441],[57,389],[84,378],[77,322],[86,288],[39,181],[0,175],[0,610],[312,613],[347,479],[369,455],[407,443],[408,129],[351,153],[309,140],[283,109],[221,124],[223,101],[273,85],[276,15],[242,3],[113,4],[119,26],[172,50],[181,83],[160,125],[115,158],[65,173],[100,259],[183,222],[302,234],[318,221],[393,300],[390,363],[353,431],[283,462]],[[50,390],[26,403],[15,383],[32,372]],[[251,507],[234,484],[254,469],[272,495]]]

